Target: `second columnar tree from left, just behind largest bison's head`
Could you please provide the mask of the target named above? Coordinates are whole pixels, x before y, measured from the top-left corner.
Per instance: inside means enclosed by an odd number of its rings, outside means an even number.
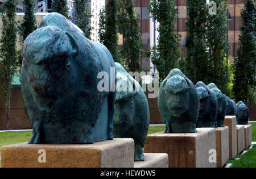
[[[22,22],[19,26],[19,43],[23,46],[24,40],[27,36],[36,30],[36,17],[35,17],[35,1],[34,0],[24,0],[23,1],[25,11]],[[22,65],[22,54],[21,50],[18,51],[19,67]]]

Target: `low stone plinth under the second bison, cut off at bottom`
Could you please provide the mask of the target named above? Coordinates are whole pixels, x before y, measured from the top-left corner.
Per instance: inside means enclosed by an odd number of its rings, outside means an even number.
[[[167,153],[144,153],[144,161],[134,161],[134,168],[168,168]]]

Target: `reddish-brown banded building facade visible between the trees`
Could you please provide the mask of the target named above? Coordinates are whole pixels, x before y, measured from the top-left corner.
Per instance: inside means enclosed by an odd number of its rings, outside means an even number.
[[[106,1],[107,2],[107,1]],[[148,50],[154,43],[156,43],[156,39],[158,36],[158,32],[155,28],[158,26],[156,22],[154,22],[150,18],[150,13],[148,13],[148,4],[150,0],[134,0],[136,6],[136,13],[140,15],[140,27],[141,27],[141,35],[142,35],[142,43],[143,49]],[[181,37],[181,41],[187,36],[187,32],[185,31],[185,22],[187,20],[187,0],[175,0],[176,2],[176,11],[178,15],[177,22],[175,24],[175,28],[177,33]],[[227,0],[229,13],[232,17],[232,20],[229,20],[229,31],[228,31],[228,39],[229,39],[229,59],[232,59],[236,56],[236,49],[238,47],[238,35],[240,34],[240,27],[242,24],[240,10],[243,9],[245,3],[242,0]],[[122,45],[122,37],[119,36],[119,46]],[[147,59],[147,57],[142,53],[141,60],[142,70],[150,71],[155,70],[154,65]]]

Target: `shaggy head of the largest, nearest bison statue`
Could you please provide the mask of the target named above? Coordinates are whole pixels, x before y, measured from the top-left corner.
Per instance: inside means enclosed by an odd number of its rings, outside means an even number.
[[[78,53],[72,36],[57,27],[39,28],[24,41],[22,70],[39,109],[50,110],[75,88]]]

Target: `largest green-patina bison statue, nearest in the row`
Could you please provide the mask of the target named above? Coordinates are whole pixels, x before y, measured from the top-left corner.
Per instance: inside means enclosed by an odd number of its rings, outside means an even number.
[[[93,143],[113,139],[115,91],[99,91],[99,72],[114,60],[58,13],[42,19],[23,45],[21,84],[33,125],[30,143]],[[109,85],[110,86],[110,85]],[[110,91],[110,92],[109,92]]]

